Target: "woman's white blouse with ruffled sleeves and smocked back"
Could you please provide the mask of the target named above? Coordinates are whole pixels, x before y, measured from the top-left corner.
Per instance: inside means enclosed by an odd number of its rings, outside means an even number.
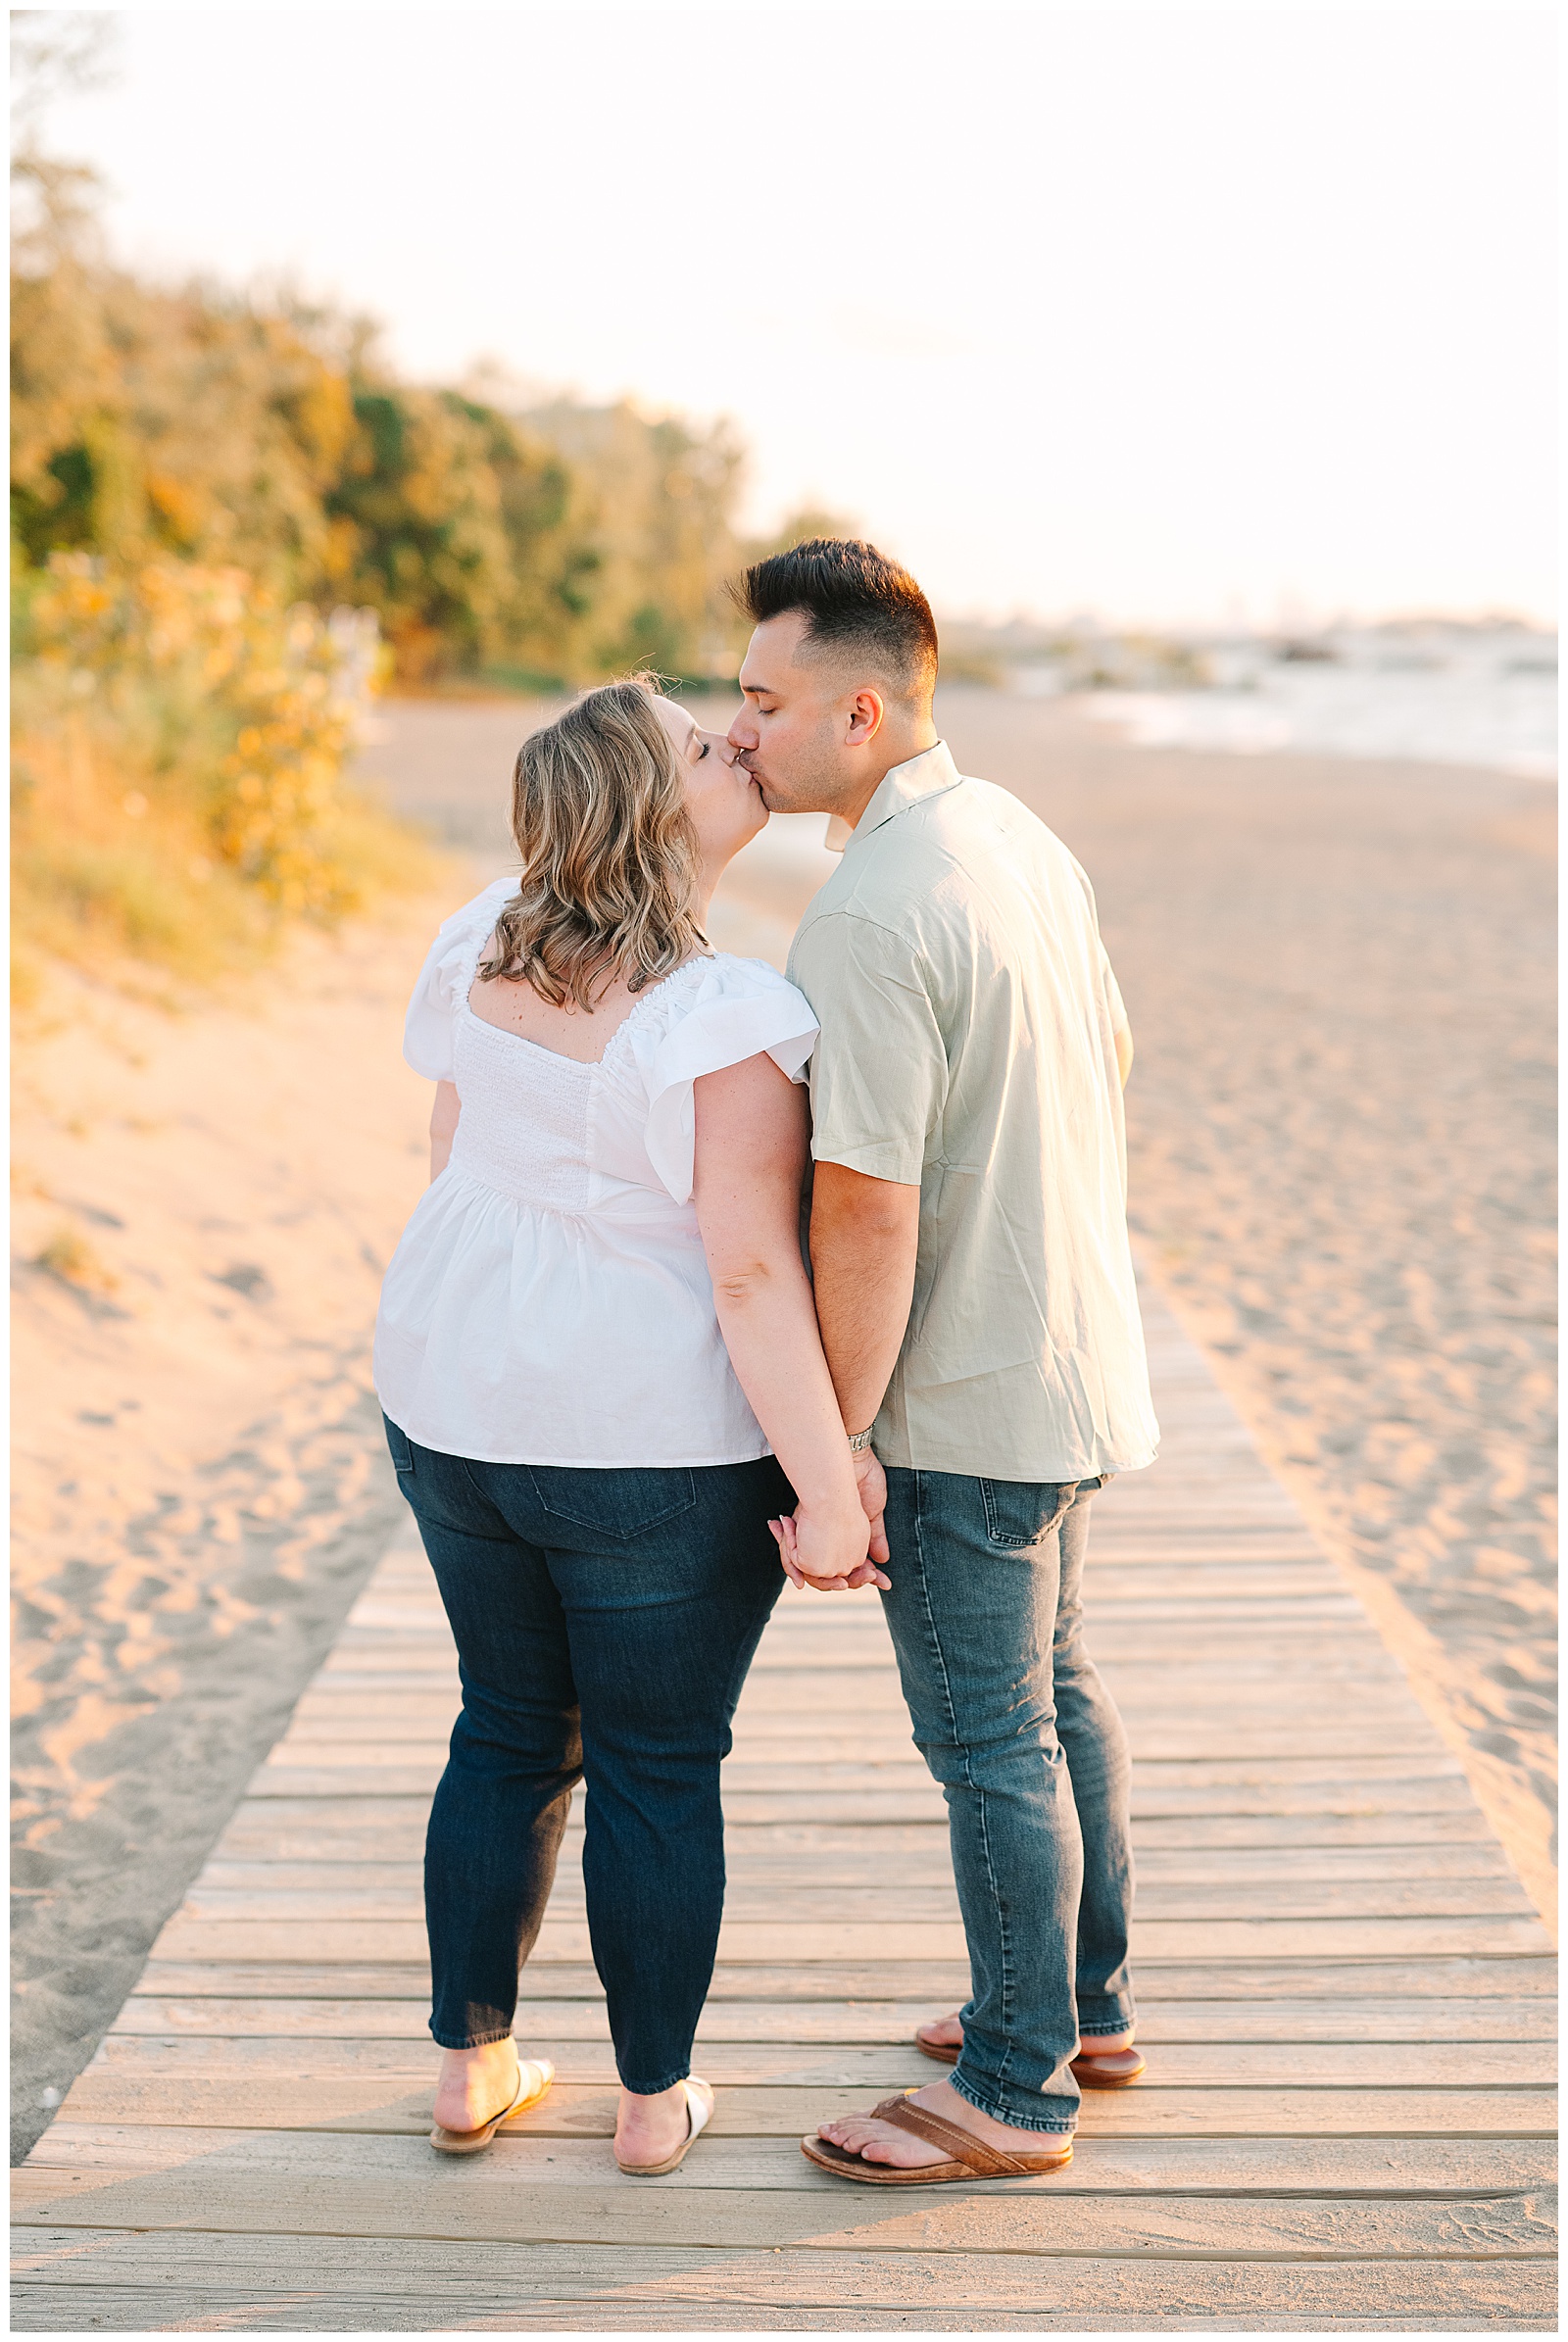
[[[403,1056],[462,1117],[382,1286],[382,1408],[483,1464],[748,1464],[769,1443],[713,1307],[691,1084],[764,1049],[802,1082],[816,1016],[720,951],[638,993],[595,1066],[558,1056],[469,1007],[513,895],[497,878],[445,923],[408,1002]]]

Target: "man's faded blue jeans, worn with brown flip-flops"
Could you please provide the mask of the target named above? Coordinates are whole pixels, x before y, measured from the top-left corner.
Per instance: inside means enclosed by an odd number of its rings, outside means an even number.
[[[1078,2038],[1132,2023],[1127,1735],[1083,1649],[1097,1487],[888,1468],[881,1602],[970,1956],[952,2080],[1029,2131],[1073,2129]]]

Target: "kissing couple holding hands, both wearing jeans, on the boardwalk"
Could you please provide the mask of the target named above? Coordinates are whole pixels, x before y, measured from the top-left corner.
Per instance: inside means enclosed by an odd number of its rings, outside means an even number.
[[[1080,1625],[1092,1492],[1158,1438],[1132,1040],[1088,878],[935,733],[914,578],[816,539],[741,595],[729,735],[649,677],[532,733],[520,878],[445,923],[408,1009],[431,1185],[375,1384],[462,1668],[431,2143],[553,2082],[511,2028],[579,1780],[616,2162],[673,2171],[708,2122],[720,1761],[788,1574],[881,1588],[970,1956],[916,2033],[952,2077],[802,2148],[867,2185],[1052,2171],[1080,2087],[1144,2066],[1127,1742]],[[769,813],[811,810],[846,845],[785,981],[703,920]]]

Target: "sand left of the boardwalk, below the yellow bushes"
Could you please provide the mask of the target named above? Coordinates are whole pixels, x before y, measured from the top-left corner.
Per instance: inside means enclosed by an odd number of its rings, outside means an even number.
[[[424,1183],[403,1002],[459,885],[178,1016],[61,979],[19,1047],[14,2150],[401,1513],[368,1330]]]

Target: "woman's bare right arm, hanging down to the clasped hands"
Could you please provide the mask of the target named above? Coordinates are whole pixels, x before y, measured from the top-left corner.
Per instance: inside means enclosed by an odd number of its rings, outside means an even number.
[[[886,1579],[867,1562],[844,1417],[799,1258],[806,1094],[771,1056],[696,1082],[696,1223],[741,1389],[799,1499],[795,1557],[818,1581]]]

